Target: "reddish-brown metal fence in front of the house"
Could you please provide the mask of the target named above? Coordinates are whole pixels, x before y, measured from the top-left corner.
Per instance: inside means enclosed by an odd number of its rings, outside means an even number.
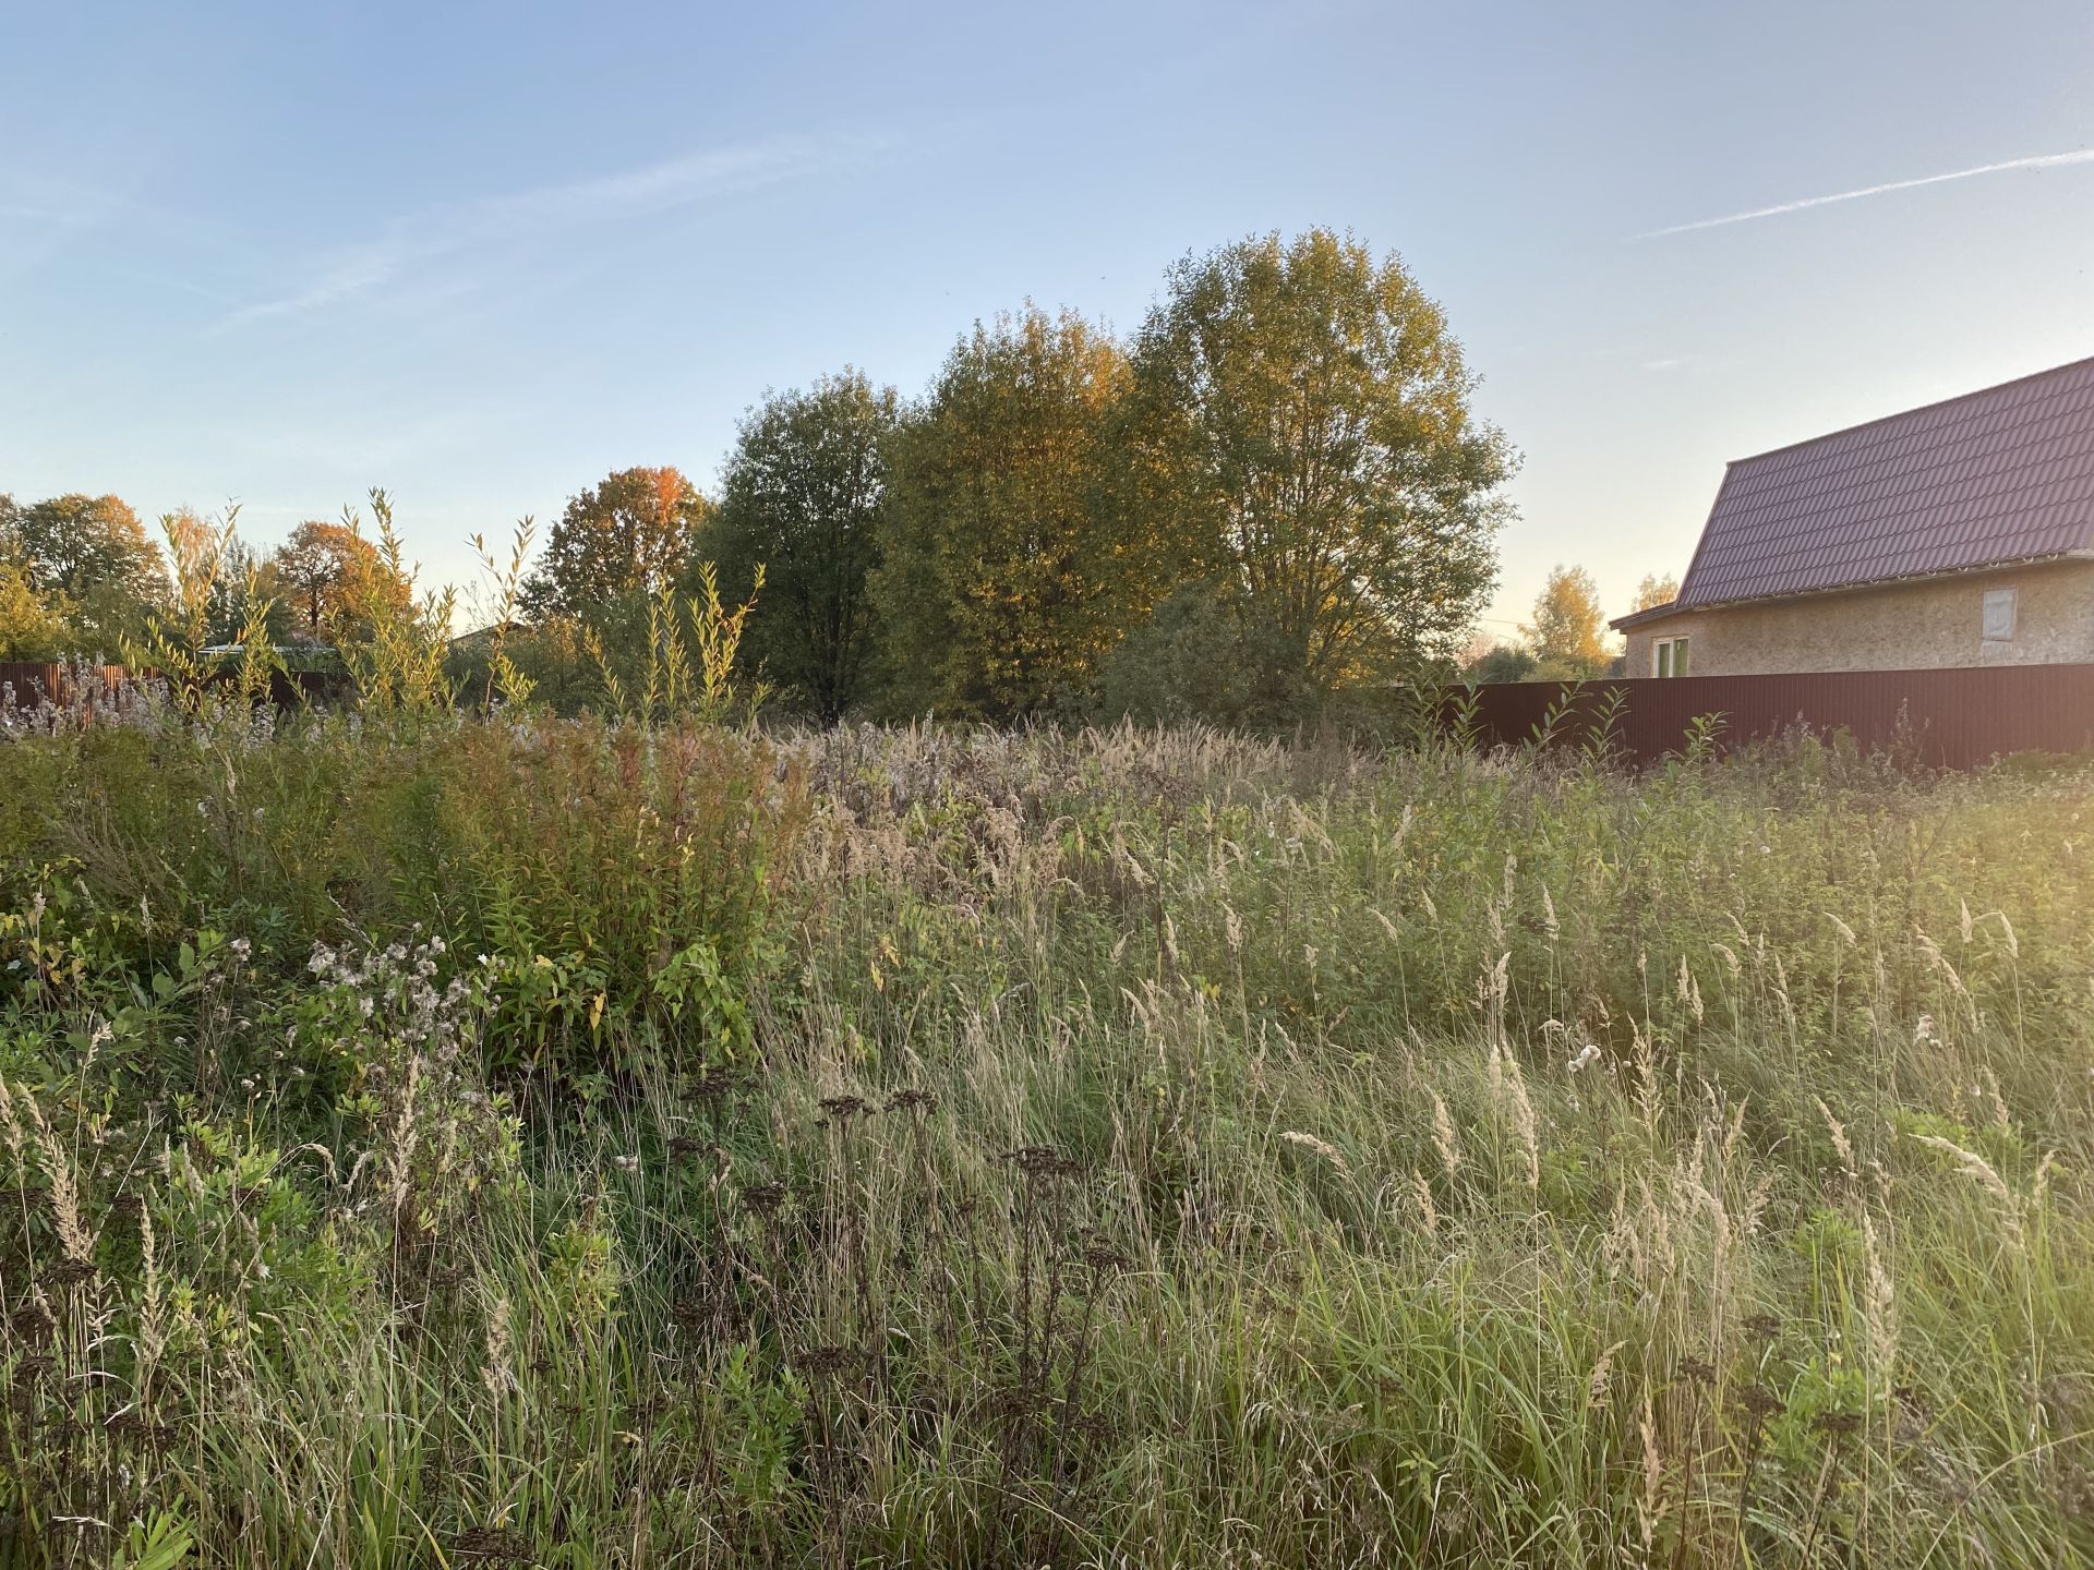
[[[2094,666],[1679,676],[1577,689],[1506,682],[1474,693],[1485,745],[1518,745],[1543,728],[1575,745],[1612,714],[1614,743],[1640,764],[1677,754],[1696,720],[1711,714],[1721,720],[1723,747],[1809,726],[1847,731],[1864,752],[1908,745],[1941,768],[1977,768],[2010,752],[2094,747]]]

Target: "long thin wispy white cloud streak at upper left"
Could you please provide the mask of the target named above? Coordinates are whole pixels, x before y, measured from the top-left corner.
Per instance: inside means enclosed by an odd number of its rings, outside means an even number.
[[[886,147],[886,138],[873,136],[777,138],[685,153],[593,180],[438,207],[389,224],[375,241],[337,251],[297,289],[241,306],[222,327],[235,329],[369,297],[448,255],[651,218],[699,201],[827,174],[861,163]]]

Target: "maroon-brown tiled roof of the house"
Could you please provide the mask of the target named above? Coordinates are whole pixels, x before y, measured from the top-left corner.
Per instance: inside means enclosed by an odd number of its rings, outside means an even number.
[[[1677,609],[2094,548],[2094,360],[1740,458]]]

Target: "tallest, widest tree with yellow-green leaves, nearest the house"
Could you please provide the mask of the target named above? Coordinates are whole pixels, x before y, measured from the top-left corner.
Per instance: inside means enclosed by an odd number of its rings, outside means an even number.
[[[1397,257],[1309,230],[1185,257],[1135,343],[1135,511],[1330,691],[1451,657],[1514,454]]]

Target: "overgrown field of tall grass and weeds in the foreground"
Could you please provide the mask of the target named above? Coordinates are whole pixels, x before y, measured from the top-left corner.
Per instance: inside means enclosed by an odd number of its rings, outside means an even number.
[[[0,1555],[2081,1564],[2090,785],[23,731]]]

